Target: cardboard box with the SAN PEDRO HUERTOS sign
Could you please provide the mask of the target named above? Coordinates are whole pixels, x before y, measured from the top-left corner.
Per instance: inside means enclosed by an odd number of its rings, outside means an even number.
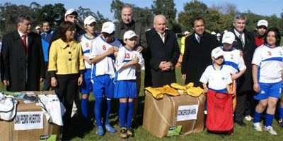
[[[27,92],[23,92],[27,93]],[[33,92],[30,92],[33,93]],[[54,91],[45,91],[45,92],[34,92],[35,94],[55,94]],[[61,131],[60,126],[48,123],[47,119],[45,118],[45,115],[42,112],[41,106],[36,106],[35,103],[29,103],[25,104],[22,99],[18,100],[18,106],[17,106],[17,115],[23,114],[23,116],[16,116],[11,121],[1,121],[0,120],[0,140],[40,140],[40,137],[49,139],[60,139]],[[41,119],[41,115],[37,114],[38,112],[43,114],[43,121]],[[24,122],[26,120],[19,120],[20,118],[23,119],[26,114],[34,115],[29,116],[26,119],[29,119],[31,123],[37,123],[34,124],[31,128],[40,128],[37,125],[43,125],[41,129],[27,129],[23,130],[25,128],[28,128],[28,124],[25,124]],[[15,130],[16,128],[20,130]],[[55,138],[56,136],[56,138]]]

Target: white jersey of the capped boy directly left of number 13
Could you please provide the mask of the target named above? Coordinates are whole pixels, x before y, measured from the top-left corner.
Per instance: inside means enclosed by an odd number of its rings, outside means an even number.
[[[122,44],[115,38],[112,39],[110,44],[108,44],[103,37],[97,37],[96,39],[93,39],[93,42],[91,42],[91,54],[89,59],[94,59],[96,56],[104,54],[110,47],[120,49]],[[98,63],[93,63],[91,77],[94,78],[98,75],[110,75],[110,78],[115,78],[114,64],[115,56],[113,54],[106,56]]]

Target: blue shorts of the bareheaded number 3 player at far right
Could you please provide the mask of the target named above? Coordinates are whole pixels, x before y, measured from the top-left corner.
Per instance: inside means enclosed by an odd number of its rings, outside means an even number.
[[[268,97],[280,98],[282,81],[274,83],[258,82],[260,85],[260,92],[256,92],[253,96],[254,99],[262,100]]]

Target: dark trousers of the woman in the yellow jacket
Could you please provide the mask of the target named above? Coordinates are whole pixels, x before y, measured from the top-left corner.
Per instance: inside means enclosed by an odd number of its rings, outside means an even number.
[[[78,94],[78,78],[79,74],[56,75],[57,87],[52,87],[66,108],[63,116],[64,128],[69,128],[74,97]]]

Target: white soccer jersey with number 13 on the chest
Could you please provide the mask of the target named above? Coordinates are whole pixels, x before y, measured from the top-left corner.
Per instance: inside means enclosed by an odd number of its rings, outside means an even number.
[[[115,80],[136,80],[136,66],[131,65],[127,66],[126,68],[122,68],[122,66],[134,59],[137,56],[139,59],[139,65],[142,66],[144,59],[142,59],[141,53],[138,51],[129,51],[126,47],[121,47],[117,54],[115,68],[116,68],[116,76]]]

